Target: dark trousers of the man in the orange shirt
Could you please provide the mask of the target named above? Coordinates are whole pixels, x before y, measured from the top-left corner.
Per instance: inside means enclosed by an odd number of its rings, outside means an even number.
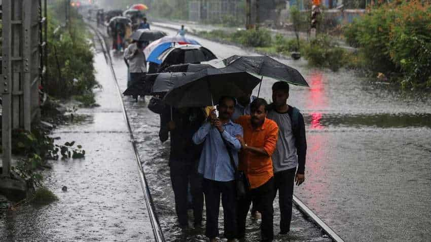
[[[256,210],[262,214],[261,241],[272,241],[274,238],[273,220],[274,211],[274,178],[269,179],[260,187],[250,189],[247,194],[238,201],[238,238],[245,235],[245,222],[250,204],[256,206]]]

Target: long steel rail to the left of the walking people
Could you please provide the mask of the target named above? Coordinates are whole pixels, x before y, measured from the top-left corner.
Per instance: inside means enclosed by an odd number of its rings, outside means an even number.
[[[157,217],[157,214],[155,213],[155,207],[154,207],[154,202],[153,202],[153,197],[151,196],[151,192],[150,192],[150,188],[148,186],[148,182],[147,182],[147,178],[145,177],[145,173],[143,172],[142,169],[142,165],[141,165],[141,160],[139,158],[139,153],[136,147],[136,140],[133,136],[133,131],[132,128],[130,126],[130,122],[129,122],[129,117],[127,115],[127,111],[126,111],[126,107],[124,106],[124,102],[123,102],[123,98],[122,98],[122,93],[120,91],[120,85],[118,84],[118,80],[117,80],[117,75],[115,74],[115,70],[112,64],[112,58],[110,53],[107,51],[106,48],[106,43],[103,39],[103,34],[101,34],[99,32],[99,30],[97,28],[94,28],[93,26],[91,26],[91,24],[88,24],[88,26],[93,29],[93,31],[95,32],[97,38],[99,39],[101,45],[102,45],[102,50],[103,53],[105,55],[106,61],[108,62],[110,68],[111,68],[111,72],[114,76],[114,80],[115,80],[115,85],[117,87],[117,91],[119,93],[119,99],[121,102],[121,106],[123,109],[123,116],[126,120],[127,123],[127,128],[129,130],[129,134],[130,134],[130,140],[132,141],[132,146],[133,146],[133,151],[135,154],[135,158],[136,158],[136,164],[138,166],[138,171],[139,171],[139,179],[140,179],[140,184],[143,190],[143,195],[145,197],[145,202],[146,202],[146,206],[147,206],[147,210],[149,213],[149,217],[150,217],[150,222],[151,222],[151,226],[153,227],[153,233],[154,233],[154,238],[155,241],[157,242],[165,242],[165,237],[163,235],[163,231],[160,227],[160,222],[159,222],[159,218]]]

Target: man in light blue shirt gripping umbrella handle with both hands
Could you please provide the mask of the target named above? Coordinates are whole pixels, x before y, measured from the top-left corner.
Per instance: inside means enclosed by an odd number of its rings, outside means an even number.
[[[220,98],[217,107],[220,116],[217,118],[214,113],[211,113],[207,121],[193,135],[195,144],[204,143],[198,172],[204,178],[205,235],[210,242],[216,241],[215,237],[219,236],[220,195],[224,211],[224,235],[228,241],[234,241],[237,232],[235,168],[231,165],[228,149],[238,166],[238,151],[241,149],[241,144],[236,136],[242,137],[243,131],[240,125],[230,120],[234,107],[234,98]]]

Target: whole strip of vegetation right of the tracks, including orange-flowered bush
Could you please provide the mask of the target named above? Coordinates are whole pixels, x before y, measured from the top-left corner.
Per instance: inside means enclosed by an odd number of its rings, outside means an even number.
[[[310,66],[361,70],[371,77],[402,89],[431,88],[431,5],[419,0],[373,6],[367,14],[346,25],[343,33],[354,52],[341,48],[328,30],[317,26],[309,35],[310,19],[291,8],[295,38],[271,34],[265,28],[227,32],[213,30],[199,35],[222,42],[240,44],[269,55],[290,56],[299,51]],[[320,21],[325,16],[319,16]],[[337,28],[339,29],[339,27]],[[300,32],[307,37],[300,37]]]

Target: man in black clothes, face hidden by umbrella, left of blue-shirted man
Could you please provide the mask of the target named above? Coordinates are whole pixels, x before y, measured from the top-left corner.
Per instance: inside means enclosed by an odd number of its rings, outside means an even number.
[[[203,191],[197,164],[202,146],[194,144],[192,136],[204,122],[205,112],[200,108],[167,106],[160,119],[160,140],[166,141],[170,133],[169,168],[179,225],[188,226],[187,190],[190,183],[194,225],[199,227],[202,224]]]

